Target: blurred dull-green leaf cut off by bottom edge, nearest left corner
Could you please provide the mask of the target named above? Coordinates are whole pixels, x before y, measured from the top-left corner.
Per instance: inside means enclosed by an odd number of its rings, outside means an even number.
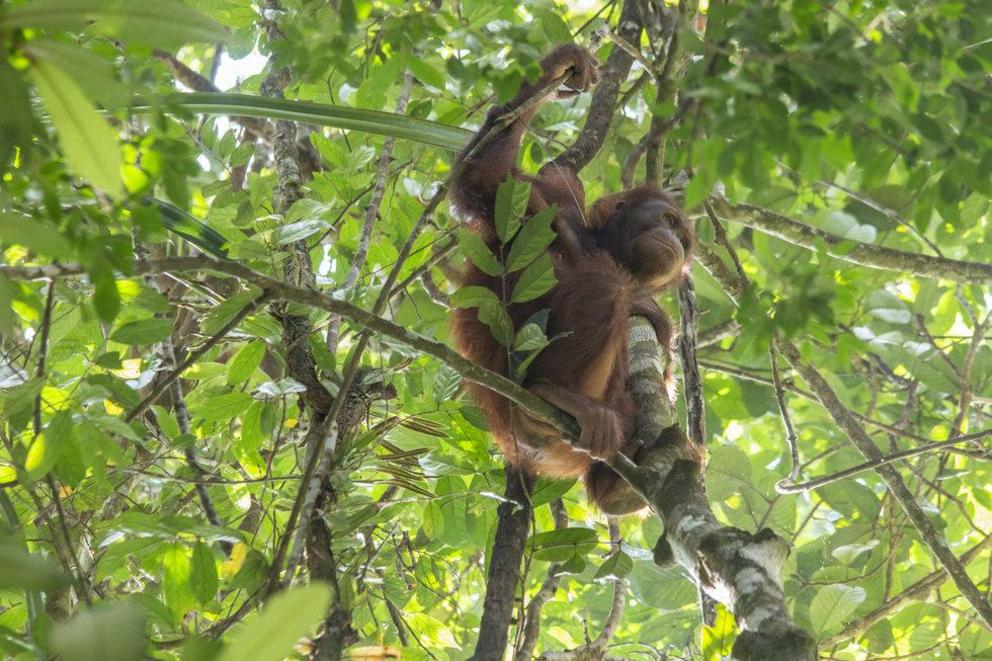
[[[145,658],[144,609],[118,602],[82,610],[56,625],[52,643],[65,661],[138,661]]]

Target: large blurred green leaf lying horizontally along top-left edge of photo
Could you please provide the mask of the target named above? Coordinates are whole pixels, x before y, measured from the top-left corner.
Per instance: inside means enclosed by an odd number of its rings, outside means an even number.
[[[89,30],[122,41],[172,48],[218,43],[227,30],[176,0],[32,0],[0,16],[0,26]]]

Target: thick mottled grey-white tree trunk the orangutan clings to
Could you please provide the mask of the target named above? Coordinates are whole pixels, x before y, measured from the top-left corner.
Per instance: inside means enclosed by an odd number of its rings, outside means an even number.
[[[816,644],[792,621],[782,593],[788,545],[770,530],[752,534],[720,525],[706,498],[699,447],[679,429],[665,390],[667,352],[646,320],[632,320],[630,348],[637,434],[648,452],[640,466],[614,467],[665,524],[655,560],[674,561],[706,594],[733,611],[741,628],[735,659],[815,659]]]

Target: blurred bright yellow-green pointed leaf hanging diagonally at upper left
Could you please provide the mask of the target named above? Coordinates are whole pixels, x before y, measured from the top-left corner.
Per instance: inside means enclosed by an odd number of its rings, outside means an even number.
[[[71,75],[45,60],[36,61],[31,71],[69,166],[107,193],[119,192],[121,153],[117,132],[93,108]]]

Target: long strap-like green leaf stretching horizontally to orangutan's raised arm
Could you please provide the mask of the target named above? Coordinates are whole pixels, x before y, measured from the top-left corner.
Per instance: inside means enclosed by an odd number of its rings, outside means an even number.
[[[412,140],[450,151],[460,151],[472,136],[469,131],[456,126],[391,112],[273,99],[250,94],[224,92],[174,94],[167,97],[166,107],[210,115],[285,119],[317,126],[391,135],[394,138]],[[131,110],[142,113],[159,112],[162,106],[139,101],[131,106]]]

